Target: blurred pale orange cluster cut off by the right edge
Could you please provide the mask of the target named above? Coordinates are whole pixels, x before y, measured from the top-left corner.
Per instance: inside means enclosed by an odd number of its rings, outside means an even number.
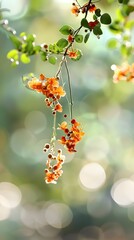
[[[123,63],[122,66],[112,65],[111,68],[114,70],[114,83],[118,83],[119,81],[134,82],[134,63],[132,65]]]

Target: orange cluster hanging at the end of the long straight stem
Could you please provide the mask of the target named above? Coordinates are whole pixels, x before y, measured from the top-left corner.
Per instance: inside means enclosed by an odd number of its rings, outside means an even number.
[[[80,123],[72,119],[71,128],[69,129],[67,122],[64,121],[59,125],[58,129],[63,130],[65,133],[65,136],[62,136],[59,142],[63,144],[69,152],[76,152],[75,146],[84,135]]]

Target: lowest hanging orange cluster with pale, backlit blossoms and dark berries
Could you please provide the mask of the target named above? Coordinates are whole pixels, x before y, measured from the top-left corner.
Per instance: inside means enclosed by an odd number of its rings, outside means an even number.
[[[50,145],[45,144],[44,151],[50,151]],[[53,151],[53,148],[51,149]],[[64,163],[65,156],[62,155],[62,150],[58,149],[57,155],[52,153],[48,154],[48,159],[46,162],[47,168],[45,169],[45,181],[46,183],[57,183],[58,178],[62,175],[63,171],[61,170],[62,164]],[[54,164],[52,164],[54,162]]]

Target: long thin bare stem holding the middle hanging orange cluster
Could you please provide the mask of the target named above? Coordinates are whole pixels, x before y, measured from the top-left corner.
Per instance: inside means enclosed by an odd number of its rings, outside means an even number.
[[[65,68],[67,71],[67,81],[68,81],[68,87],[69,87],[69,95],[70,95],[70,118],[73,119],[73,95],[72,95],[72,88],[71,88],[71,79],[70,79],[70,73],[67,65],[67,60],[65,59]]]

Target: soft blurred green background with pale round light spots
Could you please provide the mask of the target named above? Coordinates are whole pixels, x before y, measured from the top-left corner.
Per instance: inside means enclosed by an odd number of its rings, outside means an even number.
[[[79,25],[71,3],[2,1],[11,10],[5,15],[10,26],[18,34],[35,33],[39,44],[57,41],[63,24]],[[112,18],[119,6],[97,5]],[[75,155],[66,153],[57,185],[44,182],[42,148],[52,133],[51,113],[43,96],[22,83],[29,72],[53,76],[56,66],[34,56],[28,65],[11,67],[6,54],[12,45],[0,33],[0,240],[134,239],[134,86],[113,84],[110,67],[123,59],[107,49],[111,33],[105,26],[103,32],[81,45],[79,62],[69,63],[74,115],[86,134]]]

